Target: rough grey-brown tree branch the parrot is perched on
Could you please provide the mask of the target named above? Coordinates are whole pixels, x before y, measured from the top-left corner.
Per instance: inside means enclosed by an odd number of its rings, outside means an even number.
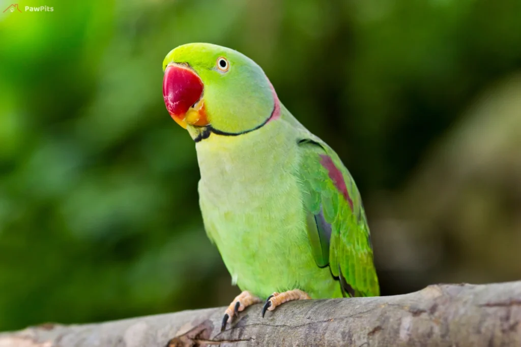
[[[521,346],[521,281],[433,285],[392,297],[249,307],[220,332],[224,307],[0,334],[0,347]]]

